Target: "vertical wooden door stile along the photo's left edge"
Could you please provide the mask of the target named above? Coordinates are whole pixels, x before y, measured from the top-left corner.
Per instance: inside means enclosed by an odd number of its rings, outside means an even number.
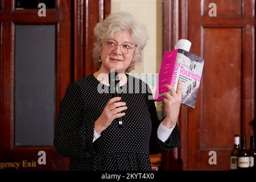
[[[6,21],[3,22],[1,76],[2,150],[11,150],[14,142],[14,24]]]

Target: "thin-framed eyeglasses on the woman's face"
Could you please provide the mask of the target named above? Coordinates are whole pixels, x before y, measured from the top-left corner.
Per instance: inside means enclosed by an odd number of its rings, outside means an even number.
[[[109,51],[114,51],[117,46],[120,46],[120,50],[124,55],[131,53],[131,50],[133,50],[134,47],[137,47],[137,45],[133,46],[134,44],[131,43],[117,44],[113,40],[105,40],[105,43],[106,48],[108,48]]]

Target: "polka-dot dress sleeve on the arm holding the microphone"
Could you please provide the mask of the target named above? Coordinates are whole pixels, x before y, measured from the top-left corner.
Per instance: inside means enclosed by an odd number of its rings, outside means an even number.
[[[59,118],[55,130],[54,146],[62,156],[84,158],[90,154],[93,140],[92,126],[82,122],[80,89],[70,84],[60,102]]]

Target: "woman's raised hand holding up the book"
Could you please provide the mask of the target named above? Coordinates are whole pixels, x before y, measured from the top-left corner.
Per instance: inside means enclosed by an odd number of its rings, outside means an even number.
[[[180,112],[180,104],[181,104],[181,80],[179,80],[177,85],[177,91],[171,85],[166,85],[170,92],[164,93],[165,97],[164,102],[164,111],[166,113],[166,118],[163,120],[163,125],[167,128],[174,127],[177,118]]]

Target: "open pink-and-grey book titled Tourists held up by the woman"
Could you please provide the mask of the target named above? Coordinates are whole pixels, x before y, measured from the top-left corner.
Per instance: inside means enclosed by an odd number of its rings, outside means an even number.
[[[181,103],[195,108],[201,75],[203,73],[204,59],[188,52],[189,48],[181,49],[179,47],[164,53],[158,85],[156,86],[155,101],[163,100],[163,93],[169,92],[166,86],[164,86],[165,84],[170,84],[177,90],[177,83],[180,79]]]

